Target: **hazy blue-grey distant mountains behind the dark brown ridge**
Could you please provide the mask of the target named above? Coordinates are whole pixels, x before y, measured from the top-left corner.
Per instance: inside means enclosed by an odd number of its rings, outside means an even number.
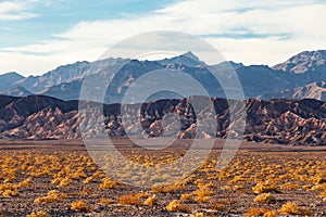
[[[161,61],[105,59],[96,62],[77,62],[59,66],[41,76],[23,77],[17,73],[0,76],[0,93],[12,97],[42,94],[61,100],[78,100],[83,81],[90,76],[104,76],[112,72],[114,85],[108,87],[104,102],[118,103],[128,87],[151,71],[168,68],[196,78],[212,98],[225,98],[225,92],[208,67],[224,79],[233,79],[227,68],[234,68],[246,99],[316,99],[325,100],[326,51],[304,51],[273,67],[224,62],[208,66],[188,52]],[[183,80],[176,80],[183,84]],[[101,87],[98,87],[101,88]],[[96,89],[96,88],[95,88]],[[185,95],[188,97],[188,95]],[[236,99],[237,100],[237,99]]]

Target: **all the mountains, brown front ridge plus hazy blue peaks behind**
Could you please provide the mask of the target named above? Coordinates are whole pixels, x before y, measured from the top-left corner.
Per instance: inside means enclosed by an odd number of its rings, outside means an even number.
[[[131,117],[139,113],[141,126],[129,119],[123,125],[121,110],[125,104],[122,99],[135,80],[155,71],[163,75],[167,71],[178,71],[195,78],[208,91],[216,115],[212,116],[213,112],[206,108],[196,114],[190,100],[193,95],[179,97],[170,92],[151,95],[146,102],[135,102],[124,115]],[[226,100],[222,88],[225,84],[220,84],[212,71],[226,84],[237,76],[246,99]],[[91,91],[97,93],[105,87],[106,78],[112,82],[106,88],[103,106],[96,99],[80,101],[79,92],[85,81],[93,79]],[[161,81],[156,80],[158,84]],[[173,82],[180,87],[188,85],[184,79]],[[234,90],[234,87],[226,88],[230,88],[226,91]],[[0,75],[0,138],[5,139],[80,138],[80,122],[87,122],[86,130],[82,131],[89,137],[103,132],[110,137],[127,133],[168,137],[177,131],[178,138],[193,139],[200,115],[217,123],[215,131],[200,131],[200,138],[241,137],[254,142],[326,145],[326,51],[323,50],[301,52],[273,67],[246,66],[231,61],[206,65],[191,52],[159,61],[110,58],[77,62],[41,76],[23,77],[14,72]],[[208,97],[197,98],[201,102]],[[93,110],[90,113],[93,116],[85,118],[83,114],[87,111],[78,107],[79,103],[90,103],[87,105],[100,110]],[[229,129],[237,125],[229,119],[231,106],[246,111],[237,113],[238,119],[246,119],[243,135]],[[102,122],[100,116],[103,116]],[[172,124],[176,116],[179,126]],[[201,124],[212,126],[212,123]]]

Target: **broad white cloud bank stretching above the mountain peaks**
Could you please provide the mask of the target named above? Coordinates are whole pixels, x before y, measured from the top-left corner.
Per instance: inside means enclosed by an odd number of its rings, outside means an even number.
[[[122,39],[151,30],[204,36],[228,60],[273,65],[302,50],[326,48],[325,11],[326,2],[317,0],[183,0],[143,16],[80,22],[57,40],[2,49],[0,72],[41,73],[96,60]],[[26,64],[18,68],[17,62]]]

